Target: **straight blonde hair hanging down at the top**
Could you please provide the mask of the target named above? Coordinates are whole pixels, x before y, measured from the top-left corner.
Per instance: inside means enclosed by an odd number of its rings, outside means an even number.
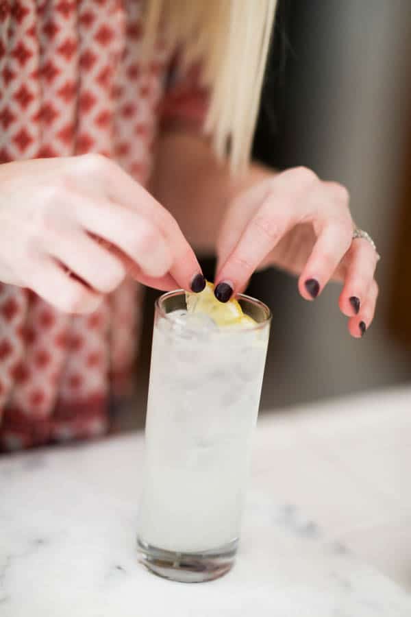
[[[146,41],[164,23],[210,89],[204,130],[232,171],[249,162],[277,0],[147,0]],[[148,44],[149,45],[149,44]],[[147,49],[147,46],[146,46]]]

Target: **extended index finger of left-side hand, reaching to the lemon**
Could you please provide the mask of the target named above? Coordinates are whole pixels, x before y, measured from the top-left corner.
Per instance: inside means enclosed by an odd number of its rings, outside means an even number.
[[[138,182],[135,182],[131,176],[125,173],[121,167],[110,160],[104,157],[88,156],[86,163],[86,169],[88,167],[90,173],[99,179],[103,178],[106,195],[109,195],[112,202],[121,204],[125,206],[125,209],[138,213],[145,221],[149,221],[151,228],[157,228],[162,232],[171,257],[171,266],[166,269],[157,267],[157,264],[160,263],[158,256],[151,260],[153,263],[149,265],[149,270],[141,261],[137,261],[138,265],[147,275],[153,277],[163,276],[170,270],[178,283],[177,287],[197,291],[198,286],[193,289],[192,281],[196,277],[197,281],[199,280],[198,275],[201,274],[201,268],[177,221],[168,210],[159,204]],[[151,232],[148,231],[147,235],[150,236],[150,234]],[[145,242],[147,249],[151,247],[152,240],[152,238],[149,238]],[[134,258],[133,255],[130,256]],[[154,265],[154,268],[151,267],[152,265]],[[203,284],[205,285],[205,282]]]

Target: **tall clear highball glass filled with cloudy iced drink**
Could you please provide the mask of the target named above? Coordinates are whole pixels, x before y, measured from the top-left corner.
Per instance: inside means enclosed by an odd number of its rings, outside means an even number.
[[[238,302],[256,326],[182,315],[182,290],[155,302],[138,551],[174,581],[209,581],[234,564],[271,322],[262,302]]]

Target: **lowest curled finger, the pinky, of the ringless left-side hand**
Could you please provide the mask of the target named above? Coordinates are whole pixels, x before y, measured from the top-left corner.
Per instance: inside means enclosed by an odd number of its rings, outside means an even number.
[[[52,258],[33,258],[27,287],[64,313],[92,313],[103,296],[64,273]]]

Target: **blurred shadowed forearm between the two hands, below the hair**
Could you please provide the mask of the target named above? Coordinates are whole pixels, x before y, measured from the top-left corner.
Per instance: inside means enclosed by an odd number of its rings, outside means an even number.
[[[252,165],[244,176],[233,178],[203,136],[173,130],[162,134],[158,143],[152,190],[177,219],[192,247],[203,255],[214,254],[227,204],[269,173]]]

